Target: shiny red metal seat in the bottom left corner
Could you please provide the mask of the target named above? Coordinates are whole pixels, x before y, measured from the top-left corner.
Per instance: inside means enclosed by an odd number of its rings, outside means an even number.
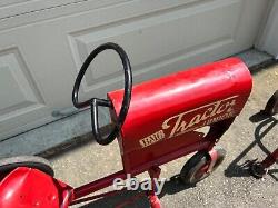
[[[66,208],[71,187],[32,168],[19,167],[0,182],[1,208]]]

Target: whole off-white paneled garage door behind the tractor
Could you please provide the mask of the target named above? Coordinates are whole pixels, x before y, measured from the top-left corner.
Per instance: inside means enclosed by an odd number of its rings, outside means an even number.
[[[136,80],[251,47],[267,0],[2,0],[0,140],[57,118],[71,107],[81,62],[98,44],[122,46]],[[82,98],[121,85],[113,52],[97,58]]]

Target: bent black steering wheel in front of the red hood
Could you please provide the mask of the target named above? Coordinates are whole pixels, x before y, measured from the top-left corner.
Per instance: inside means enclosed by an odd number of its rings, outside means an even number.
[[[88,69],[89,65],[91,63],[91,61],[97,57],[98,53],[102,52],[103,50],[107,49],[112,49],[115,50],[122,62],[123,66],[123,71],[125,71],[125,92],[123,92],[123,99],[121,102],[121,109],[120,109],[120,113],[119,117],[116,120],[116,123],[113,126],[113,129],[111,130],[111,132],[103,138],[100,135],[99,131],[99,122],[98,122],[98,106],[102,106],[102,107],[108,107],[108,108],[112,108],[112,103],[109,100],[105,100],[105,99],[99,99],[99,98],[91,98],[87,101],[82,101],[79,102],[78,101],[78,91],[79,91],[79,87],[81,83],[81,80],[85,76],[86,70]],[[130,62],[128,59],[128,56],[126,53],[126,51],[118,44],[112,43],[112,42],[107,42],[103,43],[101,46],[99,46],[98,48],[96,48],[85,60],[73,86],[73,90],[72,90],[72,103],[76,108],[85,108],[90,106],[91,107],[91,127],[92,127],[92,135],[96,138],[96,141],[100,145],[108,145],[110,142],[112,142],[115,140],[115,138],[118,136],[121,126],[125,122],[125,119],[127,117],[128,113],[128,109],[129,109],[129,105],[130,105],[130,100],[131,100],[131,91],[132,91],[132,72],[131,72],[131,67],[130,67]]]

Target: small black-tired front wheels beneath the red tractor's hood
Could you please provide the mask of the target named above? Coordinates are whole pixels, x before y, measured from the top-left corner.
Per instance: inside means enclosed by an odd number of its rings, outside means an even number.
[[[215,147],[215,150],[217,151],[217,161],[210,172],[202,172],[201,175],[199,174],[201,168],[209,165],[210,157],[206,151],[198,151],[182,167],[180,171],[181,181],[186,185],[196,185],[200,180],[207,178],[212,171],[215,171],[226,156],[225,149]]]

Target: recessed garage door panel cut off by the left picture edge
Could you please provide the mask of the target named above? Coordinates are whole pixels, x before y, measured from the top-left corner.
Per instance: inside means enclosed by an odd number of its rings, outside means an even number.
[[[43,99],[17,48],[0,51],[0,132],[27,123],[22,116],[46,108]],[[19,117],[23,122],[18,123]],[[31,120],[36,118],[32,117]],[[12,125],[11,125],[12,123]],[[0,138],[1,140],[1,138]]]

